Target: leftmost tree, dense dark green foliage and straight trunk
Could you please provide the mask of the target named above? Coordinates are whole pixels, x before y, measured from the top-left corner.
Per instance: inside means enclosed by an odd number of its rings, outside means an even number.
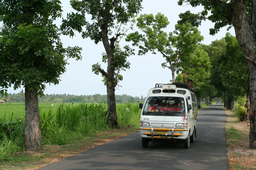
[[[45,84],[58,84],[65,72],[65,56],[80,58],[79,47],[63,48],[53,21],[61,16],[58,0],[2,0],[0,2],[0,93],[25,87],[25,147],[41,146],[38,95]]]

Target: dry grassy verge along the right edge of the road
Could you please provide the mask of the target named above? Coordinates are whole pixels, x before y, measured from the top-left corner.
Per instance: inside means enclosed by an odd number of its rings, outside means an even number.
[[[256,150],[249,149],[250,127],[245,122],[239,122],[234,111],[225,109],[226,134],[230,170],[256,169]]]

